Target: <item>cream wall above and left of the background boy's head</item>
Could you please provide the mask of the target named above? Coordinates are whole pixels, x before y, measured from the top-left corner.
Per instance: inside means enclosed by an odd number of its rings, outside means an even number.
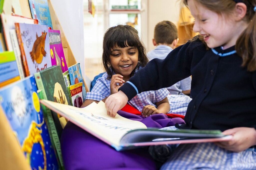
[[[180,1],[176,0],[148,0],[148,30],[147,51],[153,50],[152,43],[155,25],[163,20],[169,20],[176,26],[179,20]]]

